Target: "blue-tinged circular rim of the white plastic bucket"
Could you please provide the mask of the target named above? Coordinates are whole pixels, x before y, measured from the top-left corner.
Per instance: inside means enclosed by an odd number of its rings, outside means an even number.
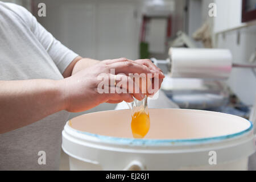
[[[153,109],[153,108],[151,108]],[[162,108],[164,109],[164,108]],[[170,108],[168,108],[170,109]],[[126,109],[125,109],[126,110]],[[173,109],[173,110],[195,110],[195,109]],[[205,110],[201,110],[205,111]],[[105,111],[100,111],[100,112],[105,112]],[[212,112],[212,113],[219,113],[216,111],[207,111],[207,112]],[[97,112],[98,113],[98,112]],[[92,113],[88,113],[92,114]],[[227,114],[227,113],[221,113],[221,114]],[[233,114],[229,114],[233,115]],[[237,115],[234,115],[236,117],[239,117]],[[240,117],[242,118],[242,117]],[[191,139],[137,139],[137,138],[122,138],[122,137],[111,137],[111,136],[106,136],[106,135],[99,135],[99,134],[94,134],[94,133],[89,133],[87,131],[80,131],[73,129],[71,126],[68,125],[68,122],[66,123],[65,128],[67,127],[68,130],[71,130],[77,134],[83,134],[87,135],[89,137],[93,137],[98,139],[100,142],[103,143],[111,143],[111,144],[121,144],[121,145],[135,145],[135,146],[176,146],[176,145],[188,145],[188,144],[202,144],[202,143],[213,143],[213,142],[221,142],[223,140],[227,139],[232,139],[236,137],[240,137],[243,134],[249,133],[253,129],[253,123],[249,121],[248,119],[242,118],[246,122],[249,122],[250,126],[242,130],[238,133],[233,133],[233,134],[228,134],[228,135],[220,135],[217,137],[206,137],[206,138],[191,138]],[[80,138],[80,137],[79,137]]]

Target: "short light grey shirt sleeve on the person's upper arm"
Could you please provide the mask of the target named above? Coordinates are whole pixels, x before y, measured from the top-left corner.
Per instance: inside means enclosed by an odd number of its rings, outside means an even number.
[[[15,13],[24,20],[27,26],[30,27],[30,30],[46,49],[59,71],[63,73],[68,65],[78,56],[77,53],[65,47],[59,42],[59,40],[56,40],[52,34],[46,30],[46,28],[38,23],[35,16],[33,16],[24,7],[15,5],[13,3],[8,4],[9,7],[11,7],[11,9],[13,9]]]

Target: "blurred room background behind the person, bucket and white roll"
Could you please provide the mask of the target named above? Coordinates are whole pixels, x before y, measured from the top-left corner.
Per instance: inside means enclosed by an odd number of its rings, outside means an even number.
[[[224,48],[237,64],[256,64],[254,0],[13,0],[80,56],[98,60],[127,57],[155,61],[166,74],[159,102],[250,117],[256,72],[232,68],[226,80],[171,78],[170,47]],[[39,17],[39,3],[46,16]],[[214,4],[212,4],[214,3]],[[213,11],[214,10],[214,11]],[[172,104],[170,104],[172,103]],[[84,113],[113,110],[102,104]],[[153,106],[154,107],[154,106]],[[168,104],[167,106],[168,107]],[[71,118],[82,113],[72,113]],[[62,168],[62,169],[65,169]]]

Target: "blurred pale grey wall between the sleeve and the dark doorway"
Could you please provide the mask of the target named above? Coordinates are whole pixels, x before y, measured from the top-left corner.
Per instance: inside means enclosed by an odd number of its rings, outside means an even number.
[[[36,5],[40,1],[35,1]],[[139,57],[139,1],[46,0],[47,16],[38,18],[65,46],[84,57]]]

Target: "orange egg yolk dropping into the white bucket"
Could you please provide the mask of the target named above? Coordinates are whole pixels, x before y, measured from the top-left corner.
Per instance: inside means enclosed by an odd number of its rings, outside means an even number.
[[[150,117],[144,111],[136,112],[131,117],[131,131],[134,138],[144,138],[150,129]]]

